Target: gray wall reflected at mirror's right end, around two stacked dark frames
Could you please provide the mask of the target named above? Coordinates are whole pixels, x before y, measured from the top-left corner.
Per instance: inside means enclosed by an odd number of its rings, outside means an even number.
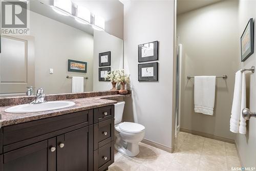
[[[111,51],[111,70],[123,69],[123,40],[109,33],[94,31],[93,91],[112,89],[110,81],[99,81],[99,53]]]

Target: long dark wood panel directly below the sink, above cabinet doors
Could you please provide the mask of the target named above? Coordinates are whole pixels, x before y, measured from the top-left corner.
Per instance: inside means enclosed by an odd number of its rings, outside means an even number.
[[[71,114],[35,120],[3,127],[4,145],[27,140],[40,135],[65,129],[67,127],[85,123],[93,123],[93,110],[75,112]]]

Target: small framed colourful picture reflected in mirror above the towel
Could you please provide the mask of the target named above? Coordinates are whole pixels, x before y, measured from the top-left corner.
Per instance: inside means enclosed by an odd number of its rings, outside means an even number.
[[[68,60],[68,71],[69,72],[81,72],[87,73],[87,62]]]

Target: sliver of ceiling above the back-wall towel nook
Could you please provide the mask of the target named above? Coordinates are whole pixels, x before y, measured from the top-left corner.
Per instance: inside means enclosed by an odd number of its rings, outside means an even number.
[[[182,14],[223,0],[178,0],[177,14]]]

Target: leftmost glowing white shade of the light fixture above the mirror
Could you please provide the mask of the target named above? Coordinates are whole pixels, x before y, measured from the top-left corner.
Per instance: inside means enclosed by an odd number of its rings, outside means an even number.
[[[72,2],[70,0],[54,0],[51,7],[58,14],[65,16],[72,14]]]

